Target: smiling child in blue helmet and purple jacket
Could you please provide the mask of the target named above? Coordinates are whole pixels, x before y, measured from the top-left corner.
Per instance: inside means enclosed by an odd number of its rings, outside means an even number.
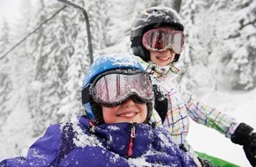
[[[136,58],[101,56],[83,82],[87,116],[50,126],[26,158],[0,166],[197,166],[163,128],[149,123],[153,98]]]

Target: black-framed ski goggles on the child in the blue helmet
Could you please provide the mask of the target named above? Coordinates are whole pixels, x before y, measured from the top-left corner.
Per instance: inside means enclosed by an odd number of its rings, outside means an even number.
[[[92,101],[103,106],[121,105],[129,98],[135,103],[151,102],[154,98],[148,74],[141,70],[117,69],[102,73],[94,79],[89,88],[84,89],[83,104]]]

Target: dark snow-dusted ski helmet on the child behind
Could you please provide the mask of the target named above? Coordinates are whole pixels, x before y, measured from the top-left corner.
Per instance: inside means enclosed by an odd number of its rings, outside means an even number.
[[[149,51],[143,47],[142,37],[150,29],[169,26],[178,31],[184,31],[181,18],[177,11],[171,8],[157,6],[151,7],[139,13],[132,25],[130,40],[133,54],[139,56],[145,62],[150,61]],[[176,54],[174,61],[177,62],[180,54]]]

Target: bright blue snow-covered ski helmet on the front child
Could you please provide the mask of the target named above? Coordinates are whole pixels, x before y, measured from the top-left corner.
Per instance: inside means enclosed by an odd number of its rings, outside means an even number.
[[[87,113],[87,118],[89,120],[94,120],[97,124],[104,123],[102,116],[102,105],[99,105],[94,102],[92,94],[90,94],[89,87],[94,83],[94,79],[107,71],[113,71],[117,69],[132,69],[144,71],[140,62],[137,58],[131,54],[105,54],[99,56],[94,63],[87,69],[87,74],[83,80],[83,88],[81,92],[82,103]],[[150,120],[150,117],[153,112],[153,103],[147,103],[147,119]]]

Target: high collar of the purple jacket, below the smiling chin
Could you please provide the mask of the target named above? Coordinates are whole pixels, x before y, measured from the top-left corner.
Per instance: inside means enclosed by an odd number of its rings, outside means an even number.
[[[94,125],[84,117],[79,117],[79,127],[90,132],[91,136],[102,142],[101,147],[109,149],[119,156],[128,157],[131,143],[131,123]],[[135,137],[132,139],[132,156],[136,158],[145,154],[154,140],[153,128],[141,123],[135,126]],[[99,146],[99,145],[98,145]]]

